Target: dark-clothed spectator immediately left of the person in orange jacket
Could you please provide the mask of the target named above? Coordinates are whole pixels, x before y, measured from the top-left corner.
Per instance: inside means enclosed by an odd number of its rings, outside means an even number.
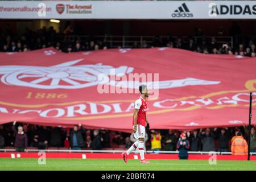
[[[217,129],[214,128],[214,133],[218,139],[218,151],[219,152],[228,152],[229,151],[229,131],[228,129]]]

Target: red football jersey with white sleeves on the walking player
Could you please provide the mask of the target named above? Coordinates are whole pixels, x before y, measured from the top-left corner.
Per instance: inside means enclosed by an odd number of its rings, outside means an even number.
[[[146,126],[146,114],[147,114],[147,100],[139,97],[137,101],[134,103],[134,108],[139,109],[137,125]],[[133,125],[134,125],[134,117],[133,117]]]

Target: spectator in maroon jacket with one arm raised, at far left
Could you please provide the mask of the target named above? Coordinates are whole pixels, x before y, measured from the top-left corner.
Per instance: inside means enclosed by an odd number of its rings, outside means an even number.
[[[12,130],[15,133],[15,151],[24,152],[27,149],[27,135],[23,131],[22,126],[18,126],[18,131],[16,130],[16,121],[13,122]]]

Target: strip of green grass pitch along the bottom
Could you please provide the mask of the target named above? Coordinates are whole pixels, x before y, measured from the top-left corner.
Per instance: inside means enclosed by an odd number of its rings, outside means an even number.
[[[210,165],[208,160],[149,160],[141,164],[130,159],[46,159],[39,165],[38,159],[0,159],[0,170],[256,170],[256,161],[217,160]]]

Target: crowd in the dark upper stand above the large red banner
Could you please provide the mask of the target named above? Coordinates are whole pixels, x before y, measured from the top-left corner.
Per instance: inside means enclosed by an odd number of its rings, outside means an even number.
[[[217,36],[224,34],[222,28],[216,32]],[[234,24],[230,28],[230,36],[233,38],[241,33],[240,27]],[[43,27],[38,31],[32,31],[26,28],[26,31],[21,36],[14,34],[8,26],[0,28],[0,51],[1,52],[26,52],[30,50],[55,47],[62,52],[77,52],[77,51],[92,51],[98,49],[108,49],[110,42],[107,39],[98,39],[93,36],[88,36],[86,40],[81,40],[80,36],[75,36],[76,32],[68,26],[64,32],[56,33],[53,27]],[[197,37],[195,42],[195,37]],[[228,42],[217,42],[216,38],[210,40],[206,38],[200,28],[196,28],[194,36],[179,38],[166,36],[161,38],[155,36],[154,40],[142,43],[134,42],[130,48],[151,48],[151,47],[174,47],[187,49],[199,53],[213,54],[230,54],[255,57],[255,42],[253,40],[235,42],[233,47]],[[122,48],[118,45],[117,48]]]

